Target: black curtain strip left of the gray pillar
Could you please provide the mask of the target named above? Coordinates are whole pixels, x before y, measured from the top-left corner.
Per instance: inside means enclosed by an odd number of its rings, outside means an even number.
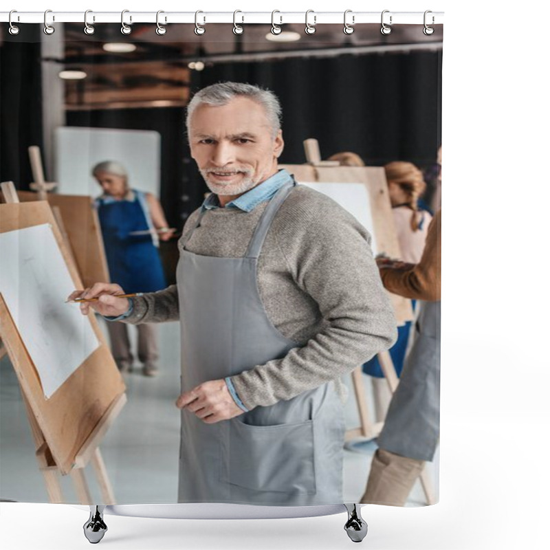
[[[0,45],[0,181],[32,182],[28,147],[43,148],[40,25],[4,32]]]

